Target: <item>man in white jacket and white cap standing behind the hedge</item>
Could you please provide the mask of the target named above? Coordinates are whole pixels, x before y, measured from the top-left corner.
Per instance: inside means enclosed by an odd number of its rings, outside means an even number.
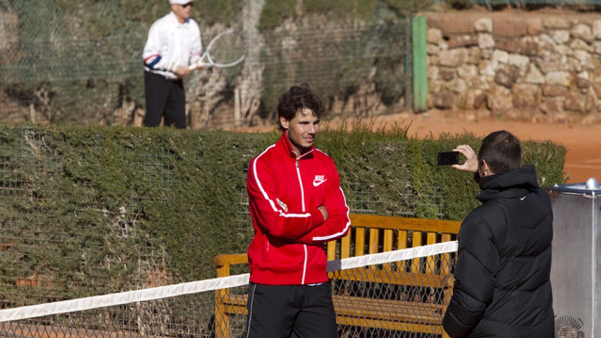
[[[186,97],[182,78],[200,60],[203,45],[198,24],[190,18],[194,0],[169,0],[171,13],[156,20],[144,46],[146,115],[144,126],[186,128]]]

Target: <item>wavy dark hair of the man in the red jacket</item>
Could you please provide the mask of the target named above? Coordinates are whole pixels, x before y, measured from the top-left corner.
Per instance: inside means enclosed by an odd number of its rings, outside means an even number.
[[[279,97],[278,103],[278,127],[282,131],[282,125],[279,123],[279,118],[284,117],[290,121],[296,116],[296,113],[301,111],[303,108],[308,108],[313,111],[313,114],[317,117],[321,117],[323,114],[323,103],[322,99],[313,93],[307,83],[301,85],[294,85],[290,87],[290,90],[282,94]]]

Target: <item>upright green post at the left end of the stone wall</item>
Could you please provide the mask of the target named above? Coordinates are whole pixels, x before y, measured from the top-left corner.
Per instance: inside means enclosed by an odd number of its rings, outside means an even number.
[[[428,109],[428,64],[426,54],[426,16],[413,17],[413,111]]]

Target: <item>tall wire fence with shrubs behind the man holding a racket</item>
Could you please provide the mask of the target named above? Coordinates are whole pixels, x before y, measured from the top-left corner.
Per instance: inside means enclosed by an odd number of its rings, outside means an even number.
[[[266,2],[236,3],[213,20],[201,8],[210,1],[197,2],[193,13],[205,44],[232,27],[246,36],[248,55],[233,69],[200,70],[186,79],[192,128],[270,121],[282,91],[301,82],[310,83],[335,115],[404,109],[410,95],[407,17],[381,4],[361,19],[308,14],[260,30],[261,16],[270,15],[263,13]],[[144,4],[1,0],[0,122],[141,125],[142,49],[150,24],[169,11],[166,0]]]

